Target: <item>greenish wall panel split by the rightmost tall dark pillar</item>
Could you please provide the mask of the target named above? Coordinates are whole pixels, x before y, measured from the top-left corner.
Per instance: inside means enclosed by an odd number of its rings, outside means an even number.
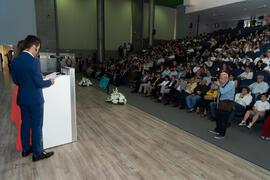
[[[143,37],[148,37],[149,4],[144,3]],[[155,5],[154,29],[156,29],[155,39],[171,40],[174,38],[176,9]]]

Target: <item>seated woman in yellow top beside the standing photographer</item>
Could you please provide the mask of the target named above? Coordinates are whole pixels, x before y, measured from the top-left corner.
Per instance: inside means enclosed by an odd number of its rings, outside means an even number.
[[[202,109],[202,117],[207,116],[207,111],[209,109],[209,105],[211,102],[216,101],[218,95],[217,86],[214,82],[211,82],[210,89],[206,92],[206,95],[201,98],[201,100],[198,102],[198,107],[196,112],[200,111],[200,108]]]

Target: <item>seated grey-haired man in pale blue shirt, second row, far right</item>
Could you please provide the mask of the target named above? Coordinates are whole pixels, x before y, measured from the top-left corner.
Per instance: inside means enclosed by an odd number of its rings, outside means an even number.
[[[251,93],[255,94],[256,97],[260,94],[266,93],[269,88],[268,84],[264,82],[263,79],[264,79],[263,75],[258,75],[257,82],[249,85]]]

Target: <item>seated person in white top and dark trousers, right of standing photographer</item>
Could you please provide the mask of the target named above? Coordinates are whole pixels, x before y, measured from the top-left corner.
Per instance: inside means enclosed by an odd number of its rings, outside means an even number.
[[[252,102],[252,96],[249,94],[249,88],[243,87],[241,93],[237,93],[234,98],[235,104],[233,107],[233,111],[229,116],[228,122],[231,123],[235,114],[244,115],[246,111],[246,107],[250,105]]]

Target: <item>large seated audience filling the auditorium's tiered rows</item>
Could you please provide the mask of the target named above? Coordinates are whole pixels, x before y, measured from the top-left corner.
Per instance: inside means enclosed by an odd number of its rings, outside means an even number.
[[[151,96],[157,103],[214,120],[219,94],[215,82],[225,72],[236,92],[228,126],[240,115],[239,126],[251,128],[270,109],[269,39],[267,26],[220,30],[172,40],[117,62],[91,64],[85,73],[97,79],[107,76],[111,84],[132,86],[132,92]]]

